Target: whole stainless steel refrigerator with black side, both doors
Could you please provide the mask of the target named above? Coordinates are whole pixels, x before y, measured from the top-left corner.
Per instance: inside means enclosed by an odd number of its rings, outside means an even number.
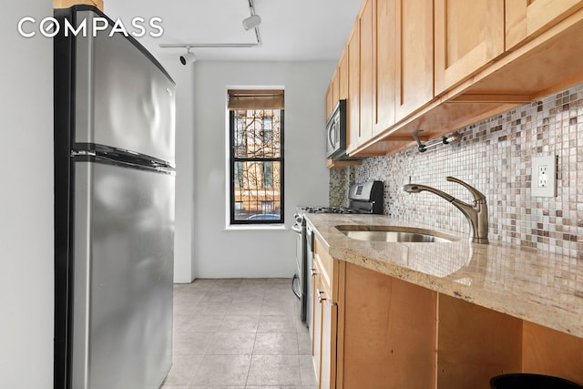
[[[111,20],[93,36],[97,8],[55,16],[89,28],[54,42],[54,387],[158,388],[172,363],[175,83]]]

